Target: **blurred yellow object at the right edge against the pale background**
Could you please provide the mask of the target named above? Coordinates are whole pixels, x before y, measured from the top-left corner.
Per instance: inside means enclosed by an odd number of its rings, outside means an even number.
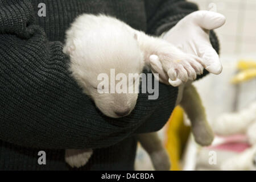
[[[231,82],[233,84],[238,84],[256,77],[256,61],[254,60],[240,60],[238,61],[237,68],[241,71],[232,78]]]

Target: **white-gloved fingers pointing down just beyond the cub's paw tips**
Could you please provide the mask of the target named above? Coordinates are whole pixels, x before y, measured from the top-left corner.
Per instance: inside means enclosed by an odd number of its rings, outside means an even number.
[[[218,53],[209,44],[208,46],[202,46],[199,48],[199,55],[203,61],[204,68],[210,73],[220,74],[222,71],[222,65]]]

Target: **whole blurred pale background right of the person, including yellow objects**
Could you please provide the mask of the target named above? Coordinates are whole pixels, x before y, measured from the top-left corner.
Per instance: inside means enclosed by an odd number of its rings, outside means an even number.
[[[205,106],[215,138],[201,147],[190,133],[189,119],[176,107],[159,131],[172,162],[171,170],[256,169],[256,1],[192,0],[200,10],[226,16],[215,30],[220,40],[220,75],[208,75],[194,85]],[[152,164],[139,146],[137,170]]]

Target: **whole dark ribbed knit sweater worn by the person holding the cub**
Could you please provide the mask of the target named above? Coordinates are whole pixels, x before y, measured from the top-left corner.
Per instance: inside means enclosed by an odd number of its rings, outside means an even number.
[[[139,94],[128,117],[105,117],[68,72],[65,30],[79,14],[105,13],[160,35],[195,10],[182,0],[0,0],[0,169],[67,170],[64,149],[85,147],[94,153],[80,169],[133,169],[135,134],[164,126],[177,89],[160,84],[158,100]]]

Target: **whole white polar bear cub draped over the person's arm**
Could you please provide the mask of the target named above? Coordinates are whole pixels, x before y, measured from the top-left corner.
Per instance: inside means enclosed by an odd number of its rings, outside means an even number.
[[[203,72],[198,57],[188,55],[162,39],[148,36],[142,31],[134,30],[121,20],[106,15],[80,15],[67,31],[63,52],[70,56],[69,68],[72,76],[84,92],[92,98],[102,113],[113,118],[125,117],[131,113],[137,102],[138,92],[102,94],[99,91],[106,88],[99,85],[100,81],[97,77],[101,73],[110,75],[110,70],[114,68],[115,74],[138,73],[139,75],[145,65],[150,65],[151,55],[159,57],[164,70],[172,80],[175,78],[182,81],[195,80],[196,74]],[[139,82],[136,81],[133,90],[138,88]],[[111,84],[108,89],[112,89]],[[189,90],[188,93],[192,95],[196,92],[194,89]],[[210,144],[213,136],[198,98],[196,97],[195,102],[191,99],[191,106],[185,106],[193,108],[199,105],[197,114],[203,117],[192,117],[192,119],[200,118],[199,124],[195,125],[199,127],[195,127],[195,131],[200,133],[204,130],[203,136],[199,134],[199,138],[204,145]],[[207,142],[204,143],[205,139]],[[139,141],[150,154],[155,169],[170,169],[168,155],[157,134],[139,135]],[[92,150],[88,149],[66,150],[65,160],[72,167],[81,167],[86,164],[91,154]]]

